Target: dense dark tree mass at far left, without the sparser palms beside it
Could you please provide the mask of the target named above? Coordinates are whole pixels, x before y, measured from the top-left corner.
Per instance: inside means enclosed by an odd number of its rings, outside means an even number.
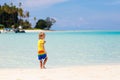
[[[9,6],[7,4],[0,6],[0,24],[4,24],[5,27],[10,27],[12,24],[17,23],[17,16],[18,13],[15,6]]]

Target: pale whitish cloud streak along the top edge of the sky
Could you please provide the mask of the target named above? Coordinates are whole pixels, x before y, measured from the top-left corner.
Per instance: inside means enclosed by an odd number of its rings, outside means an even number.
[[[46,7],[57,3],[66,2],[68,0],[24,0],[24,6],[26,7]]]

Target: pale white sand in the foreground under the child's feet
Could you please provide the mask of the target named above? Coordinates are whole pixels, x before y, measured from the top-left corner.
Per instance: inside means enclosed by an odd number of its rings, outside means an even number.
[[[120,65],[0,69],[0,80],[119,80]]]

